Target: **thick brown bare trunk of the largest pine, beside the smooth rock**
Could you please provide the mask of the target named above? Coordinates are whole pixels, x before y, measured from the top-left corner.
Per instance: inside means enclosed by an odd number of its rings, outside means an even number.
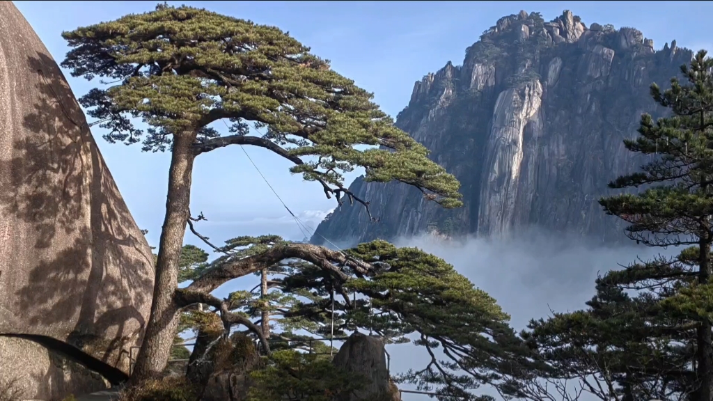
[[[190,185],[193,173],[195,133],[173,137],[168,172],[166,214],[158,247],[153,302],[146,331],[130,382],[158,377],[168,363],[178,325],[179,308],[173,301],[178,288],[178,260],[183,247],[185,226],[190,217]]]

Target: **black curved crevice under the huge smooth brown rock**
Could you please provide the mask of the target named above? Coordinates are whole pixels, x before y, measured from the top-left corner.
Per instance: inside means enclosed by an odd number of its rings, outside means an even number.
[[[106,380],[108,380],[108,382],[110,382],[112,386],[120,385],[129,378],[128,375],[122,372],[120,369],[108,365],[106,362],[102,362],[101,360],[96,359],[96,357],[88,355],[86,352],[83,352],[77,347],[73,347],[72,345],[57,340],[53,337],[36,334],[9,333],[2,333],[0,334],[0,337],[14,337],[36,342],[37,344],[46,347],[52,352],[57,352],[58,354],[63,355],[68,360],[71,360],[73,362],[78,363],[79,365],[82,365],[83,367],[86,367],[88,370],[97,372],[99,375],[102,375]]]

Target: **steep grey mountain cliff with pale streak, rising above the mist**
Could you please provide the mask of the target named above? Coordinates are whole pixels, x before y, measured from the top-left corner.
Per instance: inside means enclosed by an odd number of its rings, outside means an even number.
[[[564,11],[503,17],[466,50],[416,82],[396,125],[431,149],[431,158],[462,183],[465,206],[443,210],[400,183],[351,189],[371,202],[342,205],[317,228],[322,243],[393,239],[426,231],[507,237],[523,228],[623,238],[597,199],[607,183],[639,166],[623,146],[642,113],[661,115],[649,96],[692,58],[688,49],[653,42],[632,28],[592,24]]]

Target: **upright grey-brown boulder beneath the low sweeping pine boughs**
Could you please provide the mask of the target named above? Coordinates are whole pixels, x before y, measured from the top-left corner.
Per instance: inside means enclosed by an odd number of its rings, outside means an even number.
[[[389,377],[383,338],[354,333],[339,348],[332,363],[339,369],[365,377],[368,383],[363,389],[338,401],[399,400],[399,390]]]

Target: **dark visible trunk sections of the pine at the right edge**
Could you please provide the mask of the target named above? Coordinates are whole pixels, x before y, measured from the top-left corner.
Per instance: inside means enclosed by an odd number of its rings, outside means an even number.
[[[699,242],[699,275],[698,282],[707,284],[710,278],[710,253],[711,242],[708,238],[701,238]],[[711,356],[713,355],[713,345],[711,344],[711,321],[703,319],[696,330],[697,355],[698,362],[697,379],[698,379],[698,401],[711,401],[711,387],[713,385],[713,364]]]

